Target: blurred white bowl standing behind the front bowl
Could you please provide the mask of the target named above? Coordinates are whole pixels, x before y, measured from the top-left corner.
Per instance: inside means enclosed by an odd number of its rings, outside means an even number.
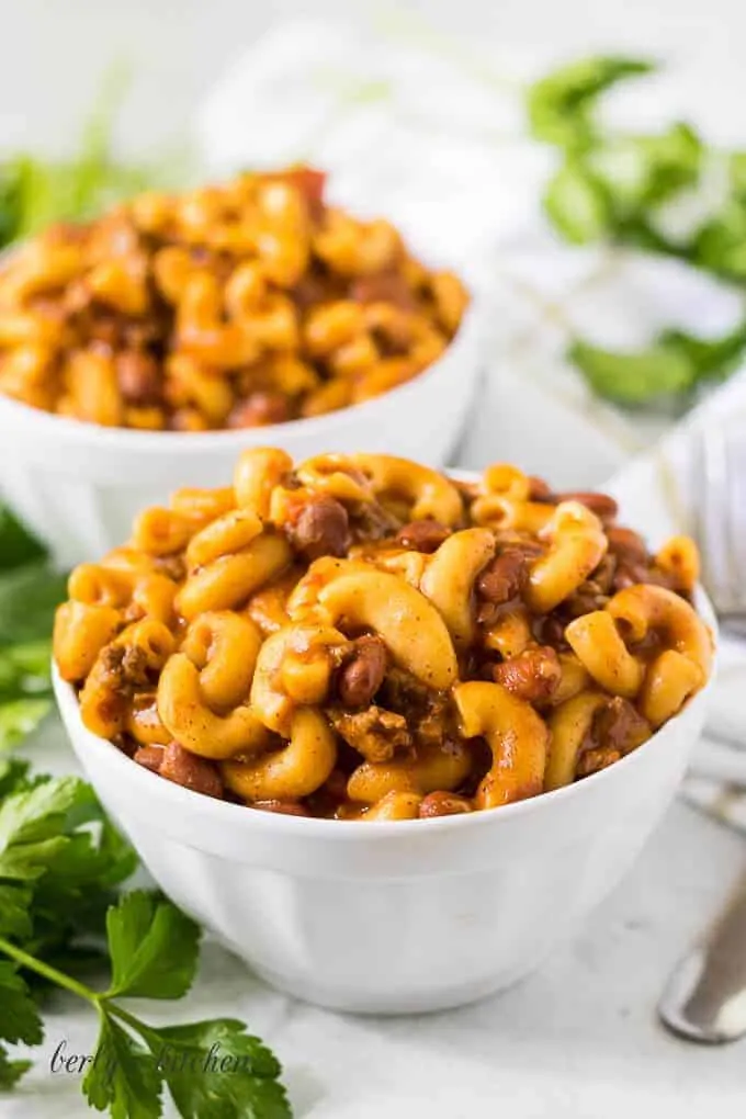
[[[62,566],[98,556],[130,535],[141,509],[181,486],[225,486],[239,451],[282,446],[402,454],[443,466],[472,402],[487,328],[479,299],[443,356],[407,384],[365,404],[243,431],[139,432],[100,427],[0,394],[0,492]]]

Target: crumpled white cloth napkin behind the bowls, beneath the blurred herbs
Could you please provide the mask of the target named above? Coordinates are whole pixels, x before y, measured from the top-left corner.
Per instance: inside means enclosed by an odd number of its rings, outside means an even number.
[[[746,379],[676,425],[676,415],[623,413],[594,397],[564,360],[567,340],[577,332],[633,348],[662,326],[718,333],[740,303],[677,262],[569,250],[547,229],[540,197],[555,156],[527,139],[522,114],[522,90],[546,65],[536,55],[487,59],[424,26],[284,22],[210,92],[199,145],[216,175],[295,160],[323,167],[334,200],[386,214],[421,253],[462,269],[491,301],[494,332],[459,464],[512,460],[558,488],[614,474],[625,520],[661,540],[691,528],[696,431],[739,411],[746,423]],[[617,97],[612,112],[658,128],[677,100],[676,76],[659,78]],[[746,652],[724,641],[712,724],[746,744],[744,688]],[[697,768],[719,794],[742,770],[746,784],[746,750],[742,758],[709,743]]]

